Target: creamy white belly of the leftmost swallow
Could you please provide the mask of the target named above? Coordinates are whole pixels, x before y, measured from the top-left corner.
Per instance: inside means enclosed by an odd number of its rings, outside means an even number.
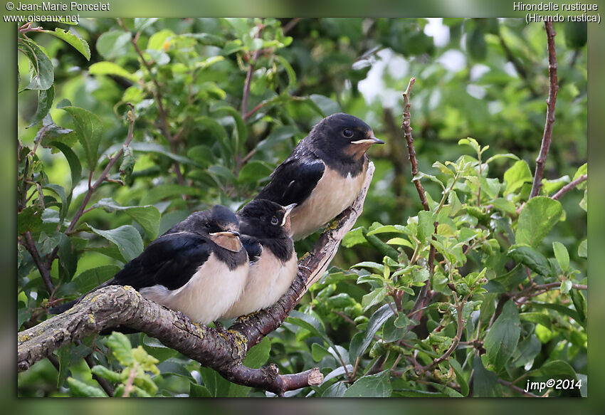
[[[248,277],[248,261],[235,270],[211,253],[191,279],[177,290],[154,285],[140,290],[144,298],[181,311],[191,320],[208,324],[221,317],[238,300]]]

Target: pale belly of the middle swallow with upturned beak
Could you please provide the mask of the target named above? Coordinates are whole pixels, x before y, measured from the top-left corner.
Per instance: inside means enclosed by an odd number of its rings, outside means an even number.
[[[296,255],[283,263],[264,248],[261,258],[250,267],[243,294],[221,319],[250,314],[275,304],[288,291],[297,271]]]

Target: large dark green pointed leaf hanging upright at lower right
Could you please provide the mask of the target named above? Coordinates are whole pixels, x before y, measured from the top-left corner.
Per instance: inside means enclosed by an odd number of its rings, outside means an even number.
[[[521,322],[517,305],[508,300],[488,335],[485,336],[484,345],[488,360],[496,369],[500,370],[515,352],[520,334]]]

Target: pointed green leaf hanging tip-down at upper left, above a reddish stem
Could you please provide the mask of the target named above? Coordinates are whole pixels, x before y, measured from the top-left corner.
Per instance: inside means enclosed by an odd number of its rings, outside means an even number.
[[[90,111],[78,107],[63,107],[73,117],[73,129],[84,148],[88,169],[95,169],[99,158],[99,143],[103,133],[100,118]]]

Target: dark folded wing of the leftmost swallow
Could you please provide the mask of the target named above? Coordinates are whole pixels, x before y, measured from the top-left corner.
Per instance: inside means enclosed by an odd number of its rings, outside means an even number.
[[[211,243],[195,233],[179,232],[157,238],[115,274],[115,283],[135,289],[164,285],[176,290],[189,281],[212,252]]]

